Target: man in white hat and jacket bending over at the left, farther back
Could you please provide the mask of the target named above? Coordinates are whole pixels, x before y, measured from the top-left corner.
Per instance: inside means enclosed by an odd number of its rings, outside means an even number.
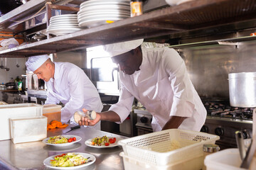
[[[73,113],[88,108],[93,111],[102,111],[102,102],[97,89],[75,64],[68,62],[52,62],[48,55],[28,57],[26,62],[28,70],[43,79],[47,86],[47,99],[45,104],[63,103],[61,109],[61,122],[75,123]],[[100,123],[94,126],[100,130]]]

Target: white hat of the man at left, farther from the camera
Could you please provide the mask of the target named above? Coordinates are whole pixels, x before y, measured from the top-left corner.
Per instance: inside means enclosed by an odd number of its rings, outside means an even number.
[[[48,55],[36,55],[33,57],[28,57],[28,61],[26,62],[26,67],[28,71],[35,72],[36,69],[41,67],[41,65],[46,62],[50,57]]]

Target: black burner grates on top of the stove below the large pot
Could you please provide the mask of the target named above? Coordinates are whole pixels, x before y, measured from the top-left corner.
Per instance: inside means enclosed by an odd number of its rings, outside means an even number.
[[[218,102],[206,102],[207,115],[220,118],[233,118],[241,120],[252,120],[252,111],[254,108],[236,108]]]

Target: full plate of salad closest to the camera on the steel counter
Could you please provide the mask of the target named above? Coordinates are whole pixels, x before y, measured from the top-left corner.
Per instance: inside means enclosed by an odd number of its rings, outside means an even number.
[[[52,169],[78,169],[93,164],[95,160],[92,154],[75,152],[53,155],[46,158],[43,164]]]

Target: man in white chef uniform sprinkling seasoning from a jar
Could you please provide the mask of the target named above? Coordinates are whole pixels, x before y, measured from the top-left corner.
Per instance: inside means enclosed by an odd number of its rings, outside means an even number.
[[[103,47],[122,71],[119,101],[109,111],[97,113],[95,120],[81,118],[80,125],[95,125],[99,120],[122,123],[135,97],[153,115],[154,132],[170,128],[201,130],[206,108],[178,52],[169,47],[142,49],[142,42],[132,40]]]

